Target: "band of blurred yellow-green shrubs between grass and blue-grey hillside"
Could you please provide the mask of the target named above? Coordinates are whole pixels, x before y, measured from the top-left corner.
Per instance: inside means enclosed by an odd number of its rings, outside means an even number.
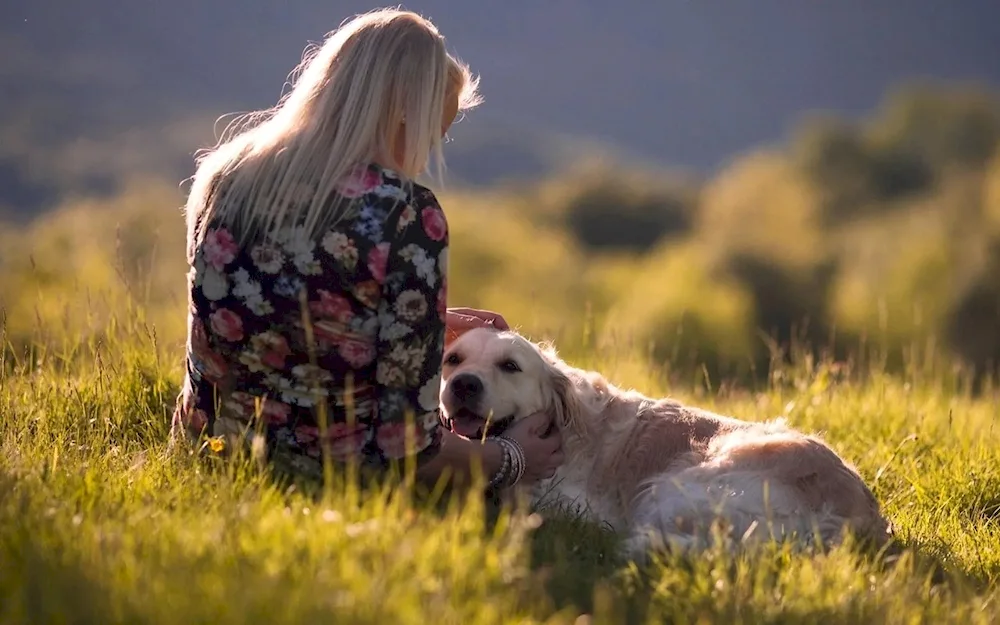
[[[591,163],[532,186],[442,190],[450,303],[500,311],[575,356],[625,341],[643,362],[714,379],[766,366],[768,337],[985,370],[1000,363],[998,111],[981,92],[913,89],[865,123],[813,118],[787,149],[705,183]],[[39,325],[89,336],[118,313],[182,340],[182,200],[136,180],[0,230],[8,338]]]

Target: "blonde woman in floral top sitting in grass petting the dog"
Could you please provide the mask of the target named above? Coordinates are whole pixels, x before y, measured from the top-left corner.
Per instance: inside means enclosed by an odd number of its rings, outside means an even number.
[[[446,329],[505,327],[448,311],[448,227],[413,182],[477,80],[427,20],[379,10],[307,56],[270,111],[199,157],[187,202],[189,323],[175,426],[262,440],[285,469],[375,471],[405,458],[435,481],[479,470],[492,485],[551,476],[547,415],[506,438],[442,426]]]

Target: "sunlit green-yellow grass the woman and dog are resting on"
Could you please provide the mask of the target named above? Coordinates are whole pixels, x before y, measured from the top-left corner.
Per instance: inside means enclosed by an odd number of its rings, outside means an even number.
[[[678,385],[624,347],[574,358],[652,394],[821,431],[904,547],[639,567],[577,519],[497,518],[475,497],[430,505],[406,489],[314,496],[170,448],[180,350],[140,318],[85,344],[40,335],[0,352],[0,623],[1000,620],[997,397],[948,372],[804,360],[752,393]]]

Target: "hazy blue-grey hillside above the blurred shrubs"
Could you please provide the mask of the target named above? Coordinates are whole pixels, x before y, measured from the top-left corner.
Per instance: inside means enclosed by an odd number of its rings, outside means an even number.
[[[128,171],[183,179],[216,117],[272,104],[308,41],[377,4],[8,3],[0,206],[33,211]],[[960,5],[406,3],[482,74],[486,105],[448,146],[455,179],[477,184],[544,175],[592,151],[708,174],[779,141],[807,111],[867,113],[900,82],[1000,84],[990,26],[1000,5]]]

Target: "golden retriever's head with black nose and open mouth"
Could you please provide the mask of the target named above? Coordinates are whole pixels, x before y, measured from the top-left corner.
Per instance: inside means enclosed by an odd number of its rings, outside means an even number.
[[[579,373],[517,333],[470,330],[445,351],[441,407],[452,429],[469,438],[545,410],[561,430],[582,433],[582,397],[595,388]]]

